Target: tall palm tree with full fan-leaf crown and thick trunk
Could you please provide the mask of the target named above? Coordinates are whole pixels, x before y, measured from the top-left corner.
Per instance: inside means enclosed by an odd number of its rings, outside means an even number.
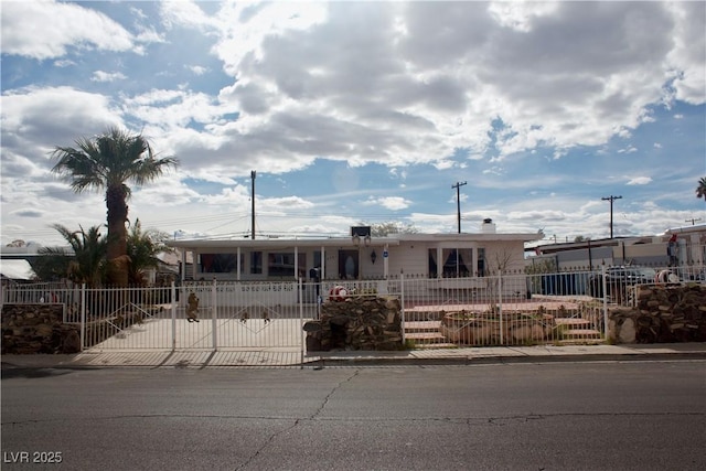
[[[178,161],[167,157],[158,159],[148,140],[119,128],[108,128],[94,138],[79,138],[76,148],[56,147],[52,157],[57,159],[52,169],[64,176],[71,188],[81,193],[90,189],[106,192],[108,207],[108,282],[128,283],[127,259],[127,200],[130,189],[126,182],[142,185],[160,176]]]

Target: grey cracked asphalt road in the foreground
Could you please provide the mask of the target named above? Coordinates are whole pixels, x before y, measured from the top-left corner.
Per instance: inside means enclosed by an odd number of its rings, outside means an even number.
[[[706,469],[705,361],[2,375],[3,470]]]

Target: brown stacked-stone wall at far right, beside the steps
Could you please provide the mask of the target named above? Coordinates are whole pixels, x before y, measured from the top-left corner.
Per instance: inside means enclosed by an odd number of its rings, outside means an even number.
[[[706,287],[640,286],[635,308],[609,312],[616,343],[706,342]]]

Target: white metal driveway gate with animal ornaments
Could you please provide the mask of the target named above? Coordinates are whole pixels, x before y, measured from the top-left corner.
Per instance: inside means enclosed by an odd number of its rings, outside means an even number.
[[[299,351],[317,314],[297,282],[191,282],[84,289],[74,314],[86,350]]]

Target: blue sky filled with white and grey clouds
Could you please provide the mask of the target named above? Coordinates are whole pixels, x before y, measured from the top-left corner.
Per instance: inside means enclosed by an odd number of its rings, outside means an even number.
[[[105,195],[51,172],[110,126],[179,167],[129,218],[174,238],[706,223],[706,2],[13,1],[1,243],[62,242]],[[457,202],[457,189],[460,201]]]

